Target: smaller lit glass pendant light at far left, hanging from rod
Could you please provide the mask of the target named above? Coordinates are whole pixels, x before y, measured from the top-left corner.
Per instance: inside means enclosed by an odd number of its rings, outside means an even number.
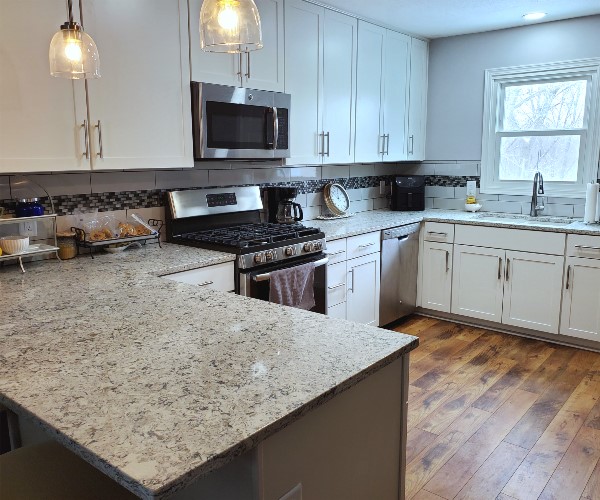
[[[96,43],[81,25],[73,21],[72,0],[67,0],[67,9],[69,20],[61,25],[50,42],[50,74],[70,80],[100,78]]]

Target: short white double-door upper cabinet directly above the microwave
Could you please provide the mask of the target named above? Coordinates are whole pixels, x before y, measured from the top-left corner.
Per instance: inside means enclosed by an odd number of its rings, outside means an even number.
[[[255,0],[260,13],[263,48],[247,54],[217,54],[200,47],[202,0],[190,0],[192,80],[283,92],[283,0]]]

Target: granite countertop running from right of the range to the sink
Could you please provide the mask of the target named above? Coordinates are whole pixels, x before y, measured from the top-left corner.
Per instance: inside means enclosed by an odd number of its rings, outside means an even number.
[[[491,218],[492,220],[485,220],[483,217]],[[310,225],[320,228],[325,233],[328,241],[421,221],[600,236],[600,224],[584,224],[581,220],[575,220],[570,224],[547,222],[547,220],[560,219],[560,217],[540,216],[537,219],[538,222],[536,222],[529,220],[526,216],[490,212],[470,213],[460,210],[436,209],[429,209],[423,212],[374,210],[371,212],[361,212],[346,219],[331,221],[313,220],[310,221]]]

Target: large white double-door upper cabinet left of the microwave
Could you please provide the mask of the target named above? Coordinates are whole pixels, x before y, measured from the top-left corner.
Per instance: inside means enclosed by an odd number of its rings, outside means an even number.
[[[10,48],[0,51],[0,171],[193,166],[185,0],[83,3],[102,75],[88,80],[87,99],[85,82],[49,73],[65,2],[0,1]]]

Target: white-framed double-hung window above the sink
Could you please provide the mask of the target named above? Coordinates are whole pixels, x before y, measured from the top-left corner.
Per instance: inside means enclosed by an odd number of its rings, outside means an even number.
[[[600,59],[485,72],[481,191],[581,198],[598,178]]]

